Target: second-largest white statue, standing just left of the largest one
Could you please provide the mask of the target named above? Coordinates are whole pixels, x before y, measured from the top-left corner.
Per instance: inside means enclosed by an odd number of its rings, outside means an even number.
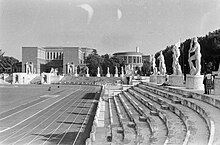
[[[172,63],[173,74],[182,75],[182,70],[179,64],[180,50],[176,45],[174,45],[172,48],[172,52],[173,52],[173,63]]]

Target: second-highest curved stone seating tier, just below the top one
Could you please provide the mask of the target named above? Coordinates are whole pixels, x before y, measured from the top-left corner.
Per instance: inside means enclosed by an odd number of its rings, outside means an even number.
[[[140,84],[138,87],[146,90],[149,96],[156,96],[162,101],[172,104],[187,116],[185,123],[190,131],[189,142],[191,144],[211,144],[213,142],[213,121],[207,116],[206,111],[185,98],[164,92],[156,87]],[[179,103],[179,104],[177,104]]]

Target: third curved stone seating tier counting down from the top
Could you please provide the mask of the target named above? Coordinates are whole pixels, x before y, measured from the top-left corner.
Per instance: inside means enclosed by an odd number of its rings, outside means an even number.
[[[164,120],[164,123],[167,124],[168,127],[168,137],[166,142],[168,144],[183,144],[186,137],[186,125],[183,121],[185,116],[181,111],[177,112],[177,108],[175,108],[177,114],[172,112],[171,108],[174,106],[163,102],[162,100],[158,101],[158,98],[152,99],[152,97],[146,97],[145,91],[140,88],[134,87],[133,89],[128,90],[133,96],[135,96],[141,103],[146,104],[152,110],[156,110],[159,114],[164,114],[166,117],[161,117]],[[155,101],[154,101],[155,100]],[[160,109],[161,108],[161,109]],[[175,122],[175,123],[173,123]]]

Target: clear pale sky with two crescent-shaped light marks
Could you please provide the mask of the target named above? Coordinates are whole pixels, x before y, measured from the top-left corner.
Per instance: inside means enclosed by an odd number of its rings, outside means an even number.
[[[220,29],[220,0],[0,0],[0,49],[91,47],[151,55]]]

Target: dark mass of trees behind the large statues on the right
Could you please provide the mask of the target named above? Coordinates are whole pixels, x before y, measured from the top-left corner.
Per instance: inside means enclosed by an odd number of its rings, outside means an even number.
[[[184,74],[189,74],[189,64],[188,64],[188,52],[190,48],[191,39],[186,39],[181,43],[180,47],[180,57],[179,62],[181,65],[182,72]],[[212,62],[212,70],[217,70],[218,65],[220,63],[220,29],[210,32],[208,35],[204,37],[199,37],[198,42],[201,47],[201,72],[206,71],[209,62]],[[163,55],[165,58],[165,64],[168,74],[172,74],[172,46],[167,46],[165,50],[163,50]],[[159,56],[159,52],[155,54],[157,58]],[[158,66],[158,60],[156,60],[156,66]]]

